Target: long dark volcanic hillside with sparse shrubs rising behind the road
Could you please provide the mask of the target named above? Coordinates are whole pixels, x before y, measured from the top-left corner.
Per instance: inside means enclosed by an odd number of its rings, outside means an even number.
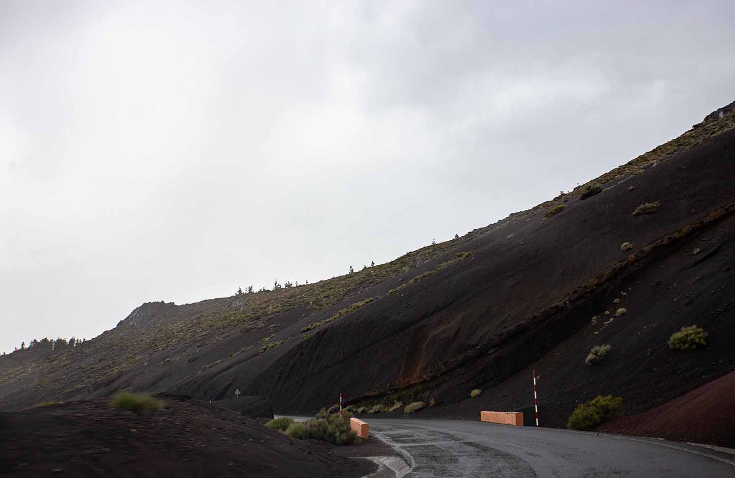
[[[548,426],[598,393],[623,396],[626,413],[650,410],[734,370],[732,106],[573,193],[391,263],[143,304],[63,353],[0,357],[0,408],[121,388],[216,401],[239,388],[279,412],[309,413],[341,392],[475,418],[528,410],[535,368]],[[641,204],[656,205],[634,215]],[[690,324],[708,345],[668,349]],[[605,363],[586,365],[603,343]],[[484,393],[470,399],[473,388]]]

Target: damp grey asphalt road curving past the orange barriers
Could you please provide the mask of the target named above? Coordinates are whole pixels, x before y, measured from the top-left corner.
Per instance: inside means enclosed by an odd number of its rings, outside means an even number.
[[[735,477],[734,455],[685,443],[479,421],[367,421],[412,462],[411,478]]]

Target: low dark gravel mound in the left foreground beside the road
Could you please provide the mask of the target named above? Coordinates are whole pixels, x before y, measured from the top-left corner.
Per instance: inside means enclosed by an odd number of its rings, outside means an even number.
[[[217,405],[165,402],[155,415],[110,409],[99,399],[0,413],[0,474],[357,478],[376,468]]]

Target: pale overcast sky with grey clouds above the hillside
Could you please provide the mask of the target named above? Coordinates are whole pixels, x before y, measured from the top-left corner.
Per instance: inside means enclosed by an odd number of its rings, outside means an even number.
[[[551,199],[733,101],[733,18],[731,0],[0,0],[0,351]]]

